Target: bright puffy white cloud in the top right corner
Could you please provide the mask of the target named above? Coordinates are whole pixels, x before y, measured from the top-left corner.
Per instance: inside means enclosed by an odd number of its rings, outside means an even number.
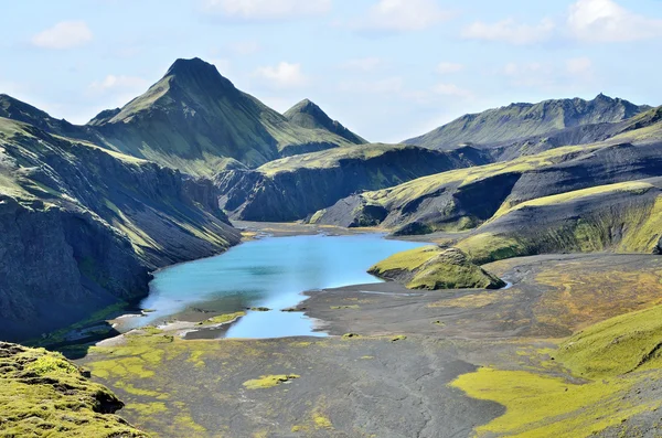
[[[611,0],[579,0],[568,13],[568,31],[580,41],[619,42],[662,38],[662,20],[636,14]]]

